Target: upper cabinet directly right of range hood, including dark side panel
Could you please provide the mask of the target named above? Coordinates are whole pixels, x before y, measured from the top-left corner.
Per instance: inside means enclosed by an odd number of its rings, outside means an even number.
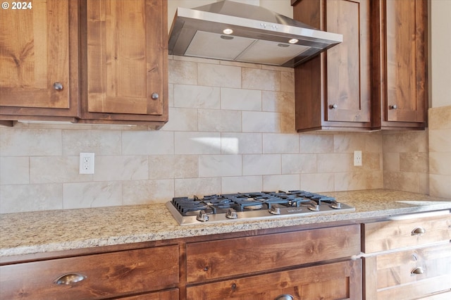
[[[295,20],[343,42],[295,68],[297,131],[371,127],[369,0],[299,0]]]

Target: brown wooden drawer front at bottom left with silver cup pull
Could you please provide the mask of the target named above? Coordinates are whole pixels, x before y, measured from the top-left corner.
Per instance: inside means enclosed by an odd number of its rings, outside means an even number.
[[[176,287],[178,246],[94,254],[0,267],[0,299],[106,299]],[[85,280],[56,285],[61,275]]]

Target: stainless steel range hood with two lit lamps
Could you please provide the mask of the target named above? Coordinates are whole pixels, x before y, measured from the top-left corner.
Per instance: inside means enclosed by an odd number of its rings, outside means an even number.
[[[226,0],[177,8],[169,54],[292,68],[340,42],[342,35],[260,6]]]

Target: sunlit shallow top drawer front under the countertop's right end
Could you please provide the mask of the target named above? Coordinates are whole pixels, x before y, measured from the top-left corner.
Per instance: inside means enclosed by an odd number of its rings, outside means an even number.
[[[424,233],[415,234],[416,228]],[[445,242],[451,239],[451,215],[367,223],[363,233],[365,253]]]

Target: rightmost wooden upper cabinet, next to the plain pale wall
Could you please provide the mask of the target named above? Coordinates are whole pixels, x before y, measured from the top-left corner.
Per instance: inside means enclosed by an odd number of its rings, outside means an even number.
[[[428,109],[427,1],[371,1],[374,19],[375,76],[381,82],[375,98],[381,99],[384,127],[426,126]]]

